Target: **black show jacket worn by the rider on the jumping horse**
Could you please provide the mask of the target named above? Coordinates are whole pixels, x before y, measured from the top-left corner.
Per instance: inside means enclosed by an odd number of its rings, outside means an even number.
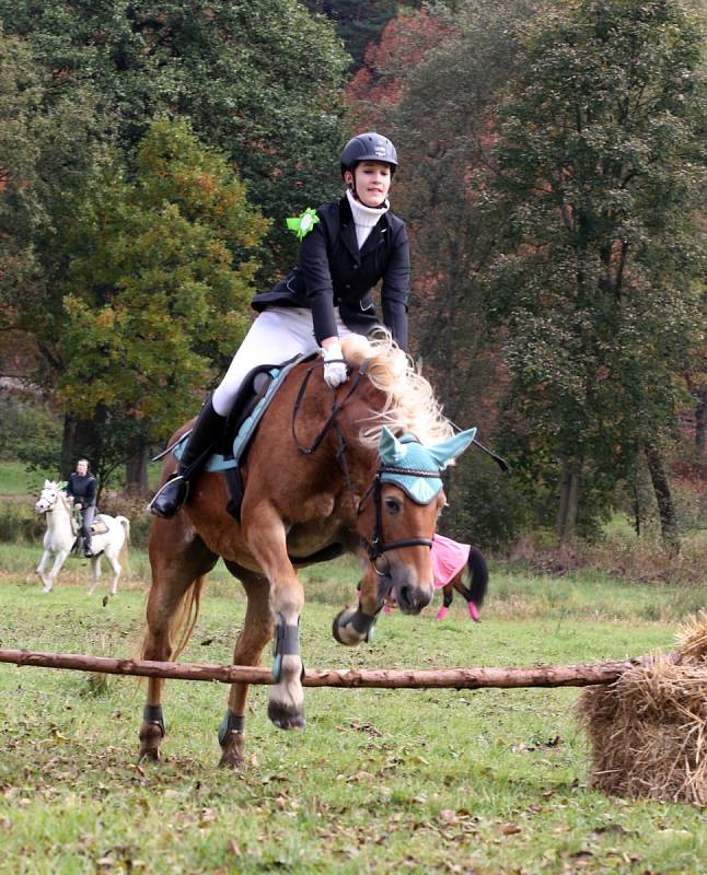
[[[410,256],[405,222],[384,213],[359,252],[351,207],[346,197],[316,210],[320,221],[303,238],[298,266],[271,291],[253,299],[260,313],[268,307],[309,307],[314,337],[336,337],[334,307],[351,331],[367,335],[380,325],[373,287],[383,280],[383,322],[393,339],[407,349],[407,298]]]

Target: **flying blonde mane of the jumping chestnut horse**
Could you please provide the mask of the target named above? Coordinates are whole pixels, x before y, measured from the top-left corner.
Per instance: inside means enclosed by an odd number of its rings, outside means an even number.
[[[370,338],[348,335],[341,349],[352,364],[368,360],[368,378],[386,396],[383,409],[361,429],[359,436],[366,446],[378,446],[383,425],[394,434],[414,434],[424,444],[443,441],[454,433],[432,387],[387,331],[376,331]]]

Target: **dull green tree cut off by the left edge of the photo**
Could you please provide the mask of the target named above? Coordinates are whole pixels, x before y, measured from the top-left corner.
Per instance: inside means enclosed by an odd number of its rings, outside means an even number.
[[[108,137],[89,90],[55,88],[28,46],[0,32],[0,337],[36,337],[42,382],[60,366],[63,232]]]

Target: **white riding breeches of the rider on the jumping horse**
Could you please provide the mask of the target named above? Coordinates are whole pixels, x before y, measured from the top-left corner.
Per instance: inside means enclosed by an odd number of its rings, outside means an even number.
[[[341,322],[338,308],[334,314],[339,338],[352,334]],[[311,310],[271,307],[264,311],[251,326],[225,376],[213,392],[213,409],[219,416],[227,417],[243,380],[258,364],[280,364],[300,353],[309,355],[318,348]]]

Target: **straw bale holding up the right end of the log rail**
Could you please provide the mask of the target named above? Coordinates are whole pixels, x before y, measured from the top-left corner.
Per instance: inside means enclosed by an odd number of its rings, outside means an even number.
[[[680,664],[657,656],[582,693],[577,712],[592,745],[592,786],[707,805],[706,618],[684,631],[679,652]]]

